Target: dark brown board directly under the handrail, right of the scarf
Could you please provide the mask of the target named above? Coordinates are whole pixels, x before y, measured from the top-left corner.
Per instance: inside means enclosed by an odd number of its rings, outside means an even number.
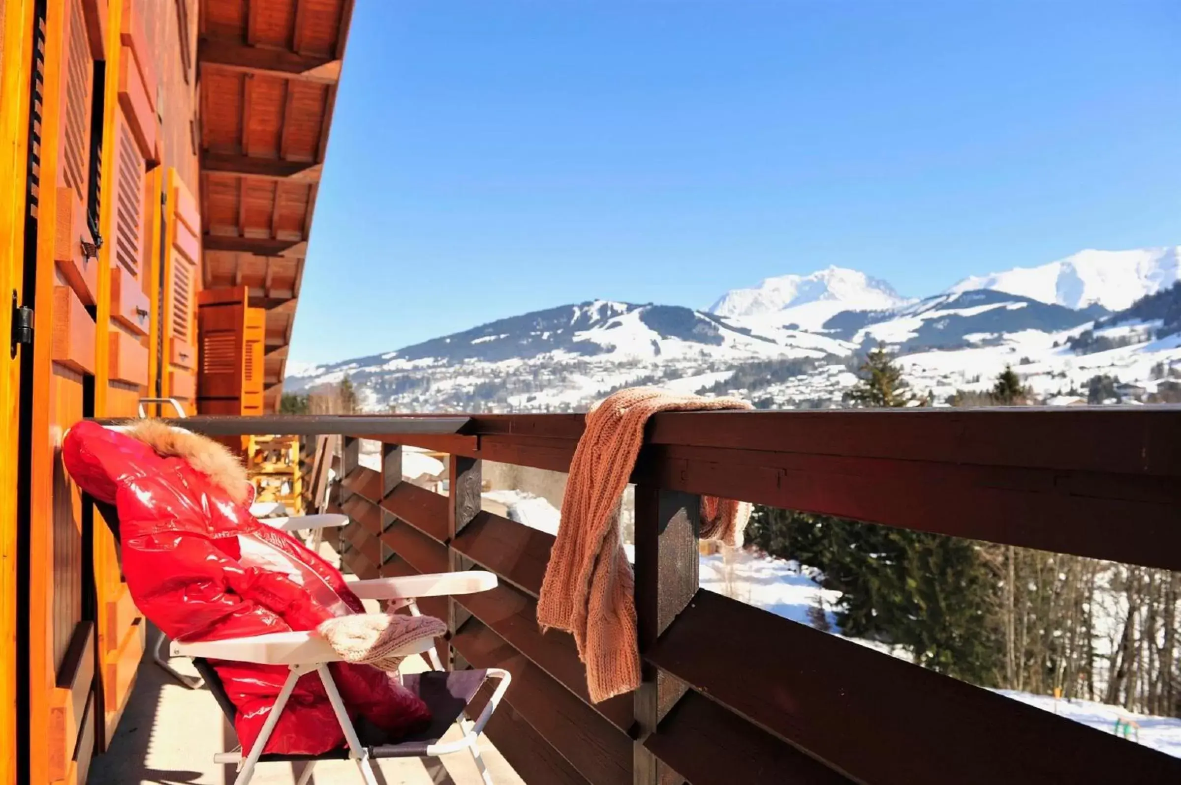
[[[667,489],[1181,569],[1181,482],[1168,477],[659,446],[645,447],[637,475]]]

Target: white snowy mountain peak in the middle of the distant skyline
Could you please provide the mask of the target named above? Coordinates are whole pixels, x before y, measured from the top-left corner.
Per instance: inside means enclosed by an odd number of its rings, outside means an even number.
[[[843,310],[885,310],[907,302],[886,281],[829,267],[811,275],[779,275],[750,289],[732,289],[710,313],[736,318],[755,329],[794,325],[815,331]]]

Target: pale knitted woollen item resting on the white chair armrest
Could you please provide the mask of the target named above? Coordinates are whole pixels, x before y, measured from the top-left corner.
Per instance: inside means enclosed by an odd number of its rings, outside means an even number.
[[[446,624],[433,616],[398,616],[394,614],[351,614],[320,622],[317,627],[328,645],[345,662],[361,662],[387,672],[397,672],[404,650],[416,641],[446,635]]]

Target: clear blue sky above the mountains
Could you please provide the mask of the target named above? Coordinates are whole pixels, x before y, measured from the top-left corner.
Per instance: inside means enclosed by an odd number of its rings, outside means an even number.
[[[1176,0],[358,0],[292,359],[1176,243]]]

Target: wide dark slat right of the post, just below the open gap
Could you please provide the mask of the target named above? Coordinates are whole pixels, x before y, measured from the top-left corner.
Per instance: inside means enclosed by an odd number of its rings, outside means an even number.
[[[1181,759],[711,591],[645,659],[873,785],[1181,781]]]

